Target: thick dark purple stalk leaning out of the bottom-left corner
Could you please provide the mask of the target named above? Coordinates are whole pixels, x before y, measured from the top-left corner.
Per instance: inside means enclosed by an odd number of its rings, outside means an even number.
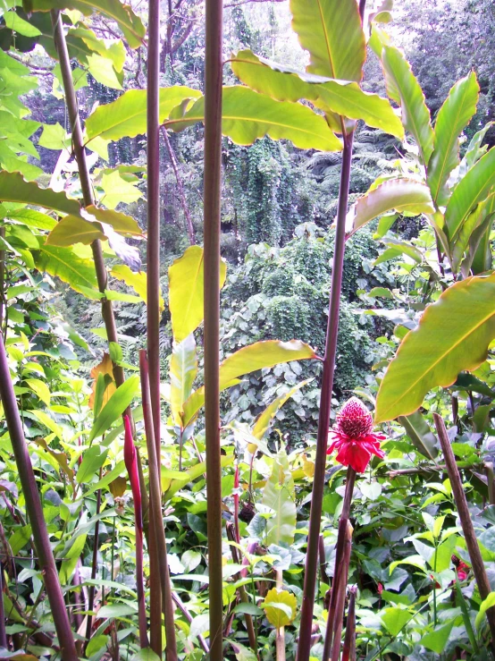
[[[4,414],[13,446],[13,455],[19,471],[22,495],[26,501],[26,511],[32,529],[32,536],[38,553],[38,565],[45,582],[46,594],[54,617],[55,630],[60,643],[63,661],[78,661],[78,654],[71,631],[69,616],[63,601],[63,593],[55,567],[54,554],[50,546],[43,507],[39,499],[38,486],[34,476],[28,446],[22,431],[21,416],[13,392],[4,339],[0,334],[0,397],[4,404]]]

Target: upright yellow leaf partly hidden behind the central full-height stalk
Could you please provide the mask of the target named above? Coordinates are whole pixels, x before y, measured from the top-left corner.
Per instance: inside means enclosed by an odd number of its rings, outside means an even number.
[[[220,265],[220,288],[225,282],[227,269]],[[203,249],[190,246],[182,257],[175,259],[169,268],[169,307],[172,316],[172,335],[175,342],[182,342],[203,321],[204,302]]]

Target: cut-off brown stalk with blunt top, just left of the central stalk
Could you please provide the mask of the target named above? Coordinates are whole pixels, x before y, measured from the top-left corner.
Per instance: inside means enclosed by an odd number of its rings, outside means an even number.
[[[165,618],[165,655],[167,661],[177,661],[177,645],[175,641],[175,625],[173,623],[173,601],[170,572],[167,562],[167,545],[162,519],[162,494],[160,485],[160,466],[156,455],[156,444],[153,424],[153,415],[150,401],[149,369],[146,351],[139,352],[139,369],[141,372],[141,394],[143,402],[143,417],[147,436],[147,456],[149,471],[150,513],[153,517],[153,530],[155,531],[156,550],[158,556],[158,577],[162,585],[162,600]],[[156,576],[151,577],[152,582]]]

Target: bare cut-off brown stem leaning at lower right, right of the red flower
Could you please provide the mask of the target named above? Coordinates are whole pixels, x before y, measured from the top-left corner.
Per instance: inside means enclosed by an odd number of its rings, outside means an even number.
[[[464,493],[464,488],[462,486],[462,479],[459,470],[457,469],[456,457],[452,452],[452,447],[450,445],[449,436],[443,419],[438,413],[433,413],[433,420],[439,435],[441,451],[445,458],[450,485],[452,486],[454,500],[457,505],[457,513],[461,521],[464,537],[466,538],[466,547],[469,557],[471,558],[474,578],[476,579],[480,591],[480,597],[486,599],[491,592],[490,581],[488,580],[486,569],[482,561],[480,547],[478,546],[478,540],[476,539],[476,533],[474,532],[466,494]],[[486,611],[486,619],[488,620],[491,631],[491,651],[495,654],[495,606],[492,606]]]

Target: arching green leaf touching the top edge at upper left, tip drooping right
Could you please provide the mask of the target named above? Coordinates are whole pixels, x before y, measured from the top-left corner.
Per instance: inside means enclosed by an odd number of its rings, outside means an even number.
[[[121,0],[23,0],[23,6],[26,12],[76,9],[85,16],[96,10],[117,23],[131,48],[138,48],[144,43],[145,26],[130,4],[123,4]]]

